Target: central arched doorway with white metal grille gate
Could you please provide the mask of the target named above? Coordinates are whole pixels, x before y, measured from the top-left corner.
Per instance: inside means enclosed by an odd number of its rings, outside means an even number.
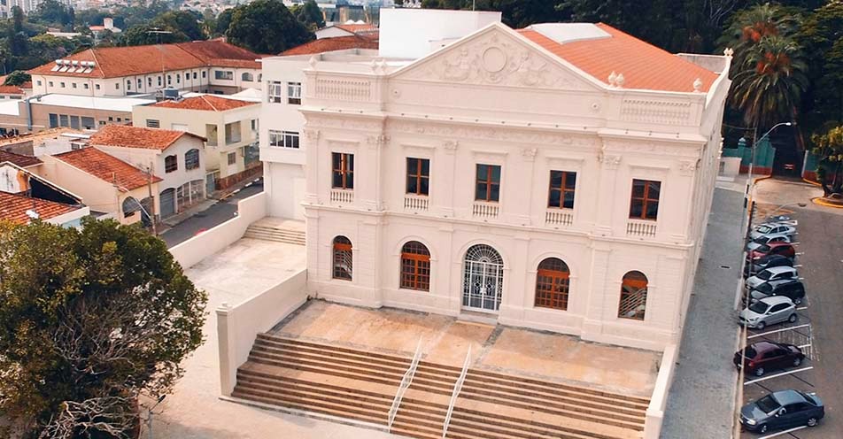
[[[477,244],[466,251],[462,267],[462,307],[497,312],[504,288],[504,261],[497,250]]]

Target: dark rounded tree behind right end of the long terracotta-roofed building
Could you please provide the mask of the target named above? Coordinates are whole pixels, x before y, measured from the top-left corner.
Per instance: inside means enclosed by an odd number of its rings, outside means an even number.
[[[280,53],[313,40],[313,32],[280,0],[255,0],[237,6],[226,36],[228,42],[256,53]]]

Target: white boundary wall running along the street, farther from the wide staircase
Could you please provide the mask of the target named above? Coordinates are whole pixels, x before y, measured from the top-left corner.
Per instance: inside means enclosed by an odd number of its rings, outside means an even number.
[[[267,216],[267,194],[244,198],[237,202],[237,216],[233,219],[196,235],[184,243],[170,249],[173,258],[187,270],[197,265],[202,259],[225,249],[246,233],[246,228],[258,219]]]

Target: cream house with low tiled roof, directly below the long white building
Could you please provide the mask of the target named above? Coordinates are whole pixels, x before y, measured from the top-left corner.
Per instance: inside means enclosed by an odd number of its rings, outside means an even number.
[[[135,124],[205,137],[209,188],[221,190],[261,173],[258,160],[260,103],[228,96],[191,94],[135,107]],[[213,184],[213,186],[212,186]]]

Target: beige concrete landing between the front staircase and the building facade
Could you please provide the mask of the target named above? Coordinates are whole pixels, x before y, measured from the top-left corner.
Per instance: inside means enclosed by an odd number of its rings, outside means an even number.
[[[312,300],[283,320],[273,335],[422,358],[546,381],[650,397],[661,353],[589,343],[577,337],[396,309],[367,309]]]

